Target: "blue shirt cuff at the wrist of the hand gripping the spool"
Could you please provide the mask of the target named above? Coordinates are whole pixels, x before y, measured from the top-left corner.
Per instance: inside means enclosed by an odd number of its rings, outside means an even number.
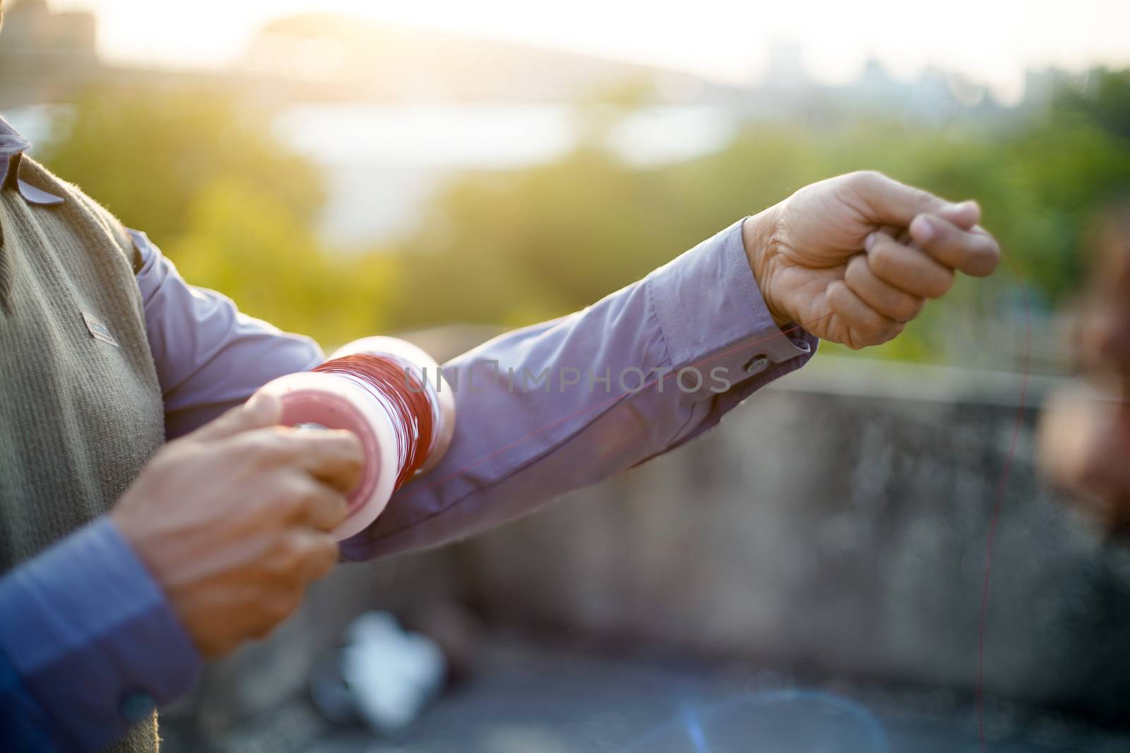
[[[98,750],[186,691],[200,657],[102,517],[0,580],[0,650],[66,748]]]

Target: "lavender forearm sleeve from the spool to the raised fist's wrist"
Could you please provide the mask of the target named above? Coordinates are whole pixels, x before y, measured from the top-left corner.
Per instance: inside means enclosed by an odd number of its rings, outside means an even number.
[[[774,324],[736,222],[582,312],[445,364],[457,406],[447,454],[342,553],[441,544],[637,465],[716,424],[816,345]]]

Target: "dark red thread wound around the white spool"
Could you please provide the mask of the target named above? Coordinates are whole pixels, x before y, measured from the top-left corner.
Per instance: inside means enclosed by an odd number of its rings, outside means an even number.
[[[342,356],[311,370],[346,377],[385,408],[397,436],[400,464],[393,490],[399,489],[427,461],[435,439],[438,404],[432,397],[426,375],[389,353]]]

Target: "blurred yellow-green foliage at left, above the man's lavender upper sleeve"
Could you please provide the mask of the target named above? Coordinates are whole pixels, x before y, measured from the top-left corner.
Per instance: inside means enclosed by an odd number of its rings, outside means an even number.
[[[269,116],[218,91],[94,89],[36,155],[245,313],[327,344],[382,330],[399,260],[323,246],[322,176]]]

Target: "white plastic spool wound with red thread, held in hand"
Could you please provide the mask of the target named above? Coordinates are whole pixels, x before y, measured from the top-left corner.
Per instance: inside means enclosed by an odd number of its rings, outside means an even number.
[[[338,540],[373,523],[408,476],[435,466],[455,431],[454,395],[438,365],[397,338],[355,340],[315,370],[278,377],[260,392],[279,396],[286,426],[346,429],[360,438],[365,467],[346,519],[333,529]]]

